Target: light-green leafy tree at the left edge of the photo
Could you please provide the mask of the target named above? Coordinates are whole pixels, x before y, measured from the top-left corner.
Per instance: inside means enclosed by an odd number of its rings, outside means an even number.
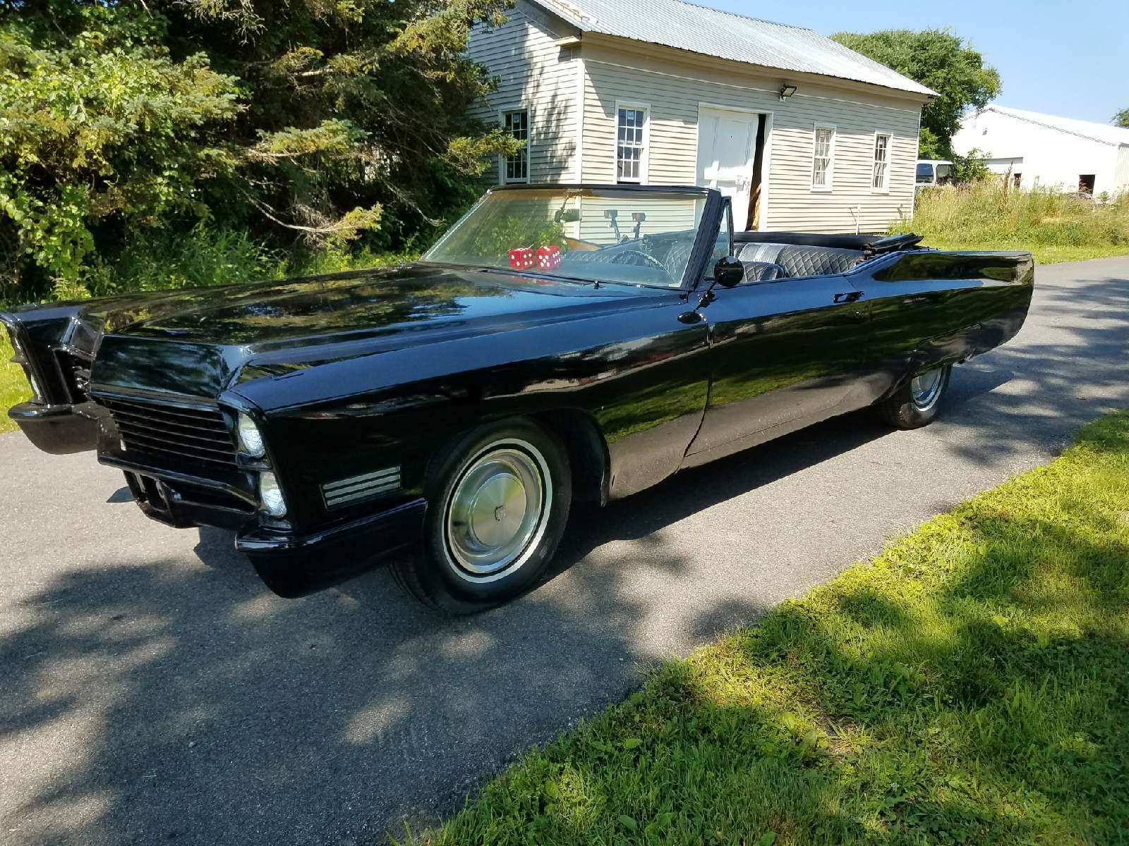
[[[68,292],[99,224],[201,214],[199,186],[237,167],[213,136],[239,112],[235,79],[200,52],[172,59],[160,20],[65,11],[58,27],[32,15],[0,27],[0,298],[36,268]]]

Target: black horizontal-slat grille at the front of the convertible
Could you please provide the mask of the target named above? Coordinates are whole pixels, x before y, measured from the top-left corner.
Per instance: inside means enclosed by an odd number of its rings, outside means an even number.
[[[235,466],[235,438],[218,408],[98,397],[128,452],[159,452]]]

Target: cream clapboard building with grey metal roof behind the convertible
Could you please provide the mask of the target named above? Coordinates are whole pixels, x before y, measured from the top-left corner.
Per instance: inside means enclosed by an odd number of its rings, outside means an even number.
[[[738,228],[882,231],[913,211],[928,88],[811,29],[682,0],[517,0],[470,54],[498,182],[709,185]]]

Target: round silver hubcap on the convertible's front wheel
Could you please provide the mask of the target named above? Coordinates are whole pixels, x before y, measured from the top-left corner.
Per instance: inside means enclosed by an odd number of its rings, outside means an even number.
[[[447,502],[447,550],[455,572],[490,581],[525,563],[552,502],[545,459],[524,441],[491,444],[463,470]]]

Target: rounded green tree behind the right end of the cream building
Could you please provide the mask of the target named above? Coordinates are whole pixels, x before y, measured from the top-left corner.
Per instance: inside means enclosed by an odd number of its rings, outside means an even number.
[[[939,95],[921,109],[922,158],[952,158],[953,134],[964,113],[999,96],[999,72],[984,64],[983,56],[963,38],[945,29],[883,29],[831,37]]]

